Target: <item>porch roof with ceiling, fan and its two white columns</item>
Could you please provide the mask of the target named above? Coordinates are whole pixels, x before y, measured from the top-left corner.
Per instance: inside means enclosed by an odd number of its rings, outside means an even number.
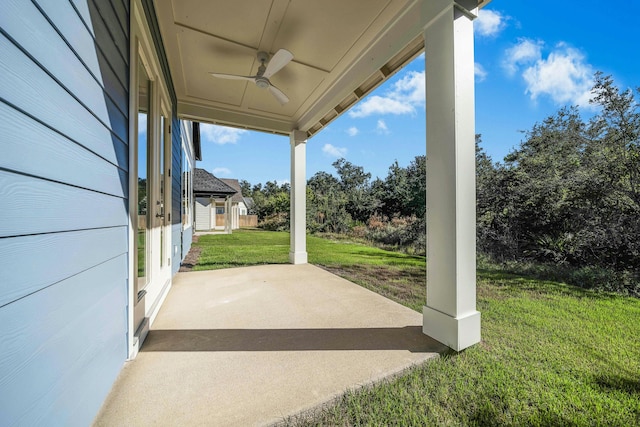
[[[307,262],[308,140],[424,53],[429,268],[422,326],[457,351],[480,341],[473,20],[487,3],[144,3],[180,118],[289,138],[292,264]]]

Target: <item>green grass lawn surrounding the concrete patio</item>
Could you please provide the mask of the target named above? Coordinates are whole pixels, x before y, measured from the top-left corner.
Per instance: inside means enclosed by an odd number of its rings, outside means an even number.
[[[289,235],[203,236],[197,269],[288,262]],[[309,262],[417,311],[423,259],[308,238]],[[640,300],[478,271],[482,342],[288,425],[640,425]]]

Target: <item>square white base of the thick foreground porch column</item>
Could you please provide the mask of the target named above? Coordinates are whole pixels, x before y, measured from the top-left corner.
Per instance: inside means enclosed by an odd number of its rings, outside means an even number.
[[[424,306],[422,332],[447,347],[462,351],[480,342],[480,312],[462,317],[451,317],[441,311]]]

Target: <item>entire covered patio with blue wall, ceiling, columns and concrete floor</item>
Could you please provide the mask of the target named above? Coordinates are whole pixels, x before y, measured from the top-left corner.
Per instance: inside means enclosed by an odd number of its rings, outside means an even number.
[[[488,2],[8,2],[0,424],[86,425],[119,373],[99,424],[268,422],[478,343],[473,21]],[[420,315],[307,265],[306,146],[422,57]],[[288,143],[293,265],[176,275],[187,122]]]

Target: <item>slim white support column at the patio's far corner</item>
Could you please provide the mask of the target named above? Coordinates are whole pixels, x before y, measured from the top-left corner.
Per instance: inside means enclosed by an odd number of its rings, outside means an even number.
[[[294,130],[291,142],[291,264],[307,263],[307,134]]]

